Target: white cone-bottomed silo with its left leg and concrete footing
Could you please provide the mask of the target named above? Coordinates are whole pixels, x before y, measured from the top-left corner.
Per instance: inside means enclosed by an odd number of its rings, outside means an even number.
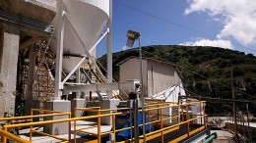
[[[55,33],[50,47],[56,55],[54,101],[45,102],[45,109],[71,112],[71,102],[59,100],[65,80],[61,79],[62,68],[68,73],[76,71],[86,58],[96,56],[96,43],[109,20],[111,0],[57,0],[58,10],[52,24]],[[103,35],[106,35],[104,32]],[[99,38],[100,39],[100,38]],[[63,58],[69,53],[69,58]],[[81,57],[82,56],[82,57]],[[85,57],[83,57],[85,56]],[[83,61],[85,60],[85,61]],[[49,118],[54,119],[52,118]],[[44,132],[50,134],[67,133],[68,123],[45,125]]]

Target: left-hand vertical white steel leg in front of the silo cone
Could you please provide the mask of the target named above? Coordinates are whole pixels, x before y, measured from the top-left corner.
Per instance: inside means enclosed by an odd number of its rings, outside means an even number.
[[[57,51],[56,51],[56,72],[55,72],[55,87],[54,100],[61,97],[61,73],[62,73],[62,55],[63,55],[63,41],[64,41],[64,17],[62,16],[64,10],[63,0],[58,0],[58,33],[57,33]]]

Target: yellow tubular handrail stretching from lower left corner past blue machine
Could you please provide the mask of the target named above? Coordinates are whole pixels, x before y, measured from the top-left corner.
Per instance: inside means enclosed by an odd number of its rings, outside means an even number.
[[[163,134],[169,132],[168,129],[171,129],[173,127],[176,127],[176,126],[179,126],[181,124],[186,124],[186,123],[189,123],[193,120],[196,120],[196,119],[204,119],[204,122],[206,123],[206,120],[205,118],[207,117],[207,115],[205,115],[205,109],[203,109],[203,114],[200,114],[200,115],[196,115],[197,117],[195,118],[191,118],[191,119],[186,119],[186,120],[182,120],[180,121],[179,120],[179,114],[177,116],[167,116],[167,118],[164,118],[164,114],[162,114],[162,110],[163,109],[169,109],[169,108],[185,108],[186,110],[188,110],[188,106],[192,105],[192,104],[204,104],[205,101],[201,101],[201,102],[190,102],[190,103],[184,103],[184,104],[179,104],[179,105],[170,105],[170,106],[164,106],[166,104],[162,103],[162,106],[160,106],[160,104],[158,104],[158,108],[152,108],[152,109],[146,109],[145,112],[150,112],[150,111],[153,111],[153,110],[158,110],[160,111],[160,114],[158,114],[157,116],[160,117],[160,119],[158,120],[152,120],[152,121],[149,121],[147,123],[145,123],[145,125],[150,125],[150,124],[155,124],[155,125],[160,125],[160,129],[159,130],[155,130],[155,131],[151,131],[149,133],[146,134],[147,137],[151,136],[151,135],[154,135],[155,136],[161,136],[163,137]],[[201,106],[202,107],[202,106]],[[204,106],[202,107],[204,108]],[[44,121],[37,121],[37,122],[29,122],[29,123],[21,123],[21,124],[10,124],[10,125],[4,125],[3,126],[3,129],[4,131],[2,130],[2,132],[0,132],[0,134],[2,135],[2,139],[3,139],[3,143],[5,143],[6,141],[6,138],[8,138],[9,136],[6,135],[7,130],[10,129],[10,128],[16,128],[16,127],[26,127],[26,126],[34,126],[34,125],[43,125],[43,124],[49,124],[49,123],[58,123],[58,122],[71,122],[71,121],[74,121],[75,122],[75,126],[74,126],[74,134],[75,134],[75,138],[76,138],[76,132],[79,131],[79,132],[87,132],[87,131],[84,131],[82,129],[87,129],[87,128],[91,128],[91,127],[86,127],[86,128],[79,128],[77,129],[76,126],[77,126],[77,121],[76,120],[85,120],[85,119],[97,119],[97,125],[95,125],[95,127],[97,128],[97,133],[95,134],[97,136],[97,142],[100,142],[100,137],[102,135],[105,135],[105,134],[109,134],[109,133],[113,133],[113,135],[115,136],[115,132],[119,132],[119,131],[123,131],[123,130],[126,130],[126,129],[131,129],[131,128],[134,128],[134,126],[130,126],[130,127],[126,127],[126,128],[121,128],[121,129],[115,129],[114,125],[115,125],[115,117],[118,116],[118,115],[123,115],[124,113],[123,112],[118,112],[118,113],[112,113],[112,114],[103,114],[101,115],[101,112],[111,112],[111,111],[122,111],[122,110],[129,110],[129,108],[117,108],[117,109],[103,109],[103,110],[100,110],[98,107],[93,107],[93,108],[77,108],[75,109],[75,113],[77,113],[77,111],[90,111],[90,112],[97,112],[97,115],[96,116],[90,116],[90,117],[81,117],[81,118],[73,118],[73,119],[56,119],[56,120],[44,120]],[[37,110],[36,110],[37,111]],[[45,111],[46,112],[46,111]],[[49,112],[52,112],[53,114],[51,115],[57,115],[57,114],[54,114],[54,111],[49,111]],[[141,110],[139,110],[139,112],[142,112]],[[63,114],[63,113],[62,113]],[[66,113],[64,113],[66,114]],[[131,114],[131,113],[130,113]],[[41,115],[41,116],[47,116],[47,115]],[[188,116],[188,115],[187,115]],[[21,118],[32,118],[32,117],[35,117],[35,116],[28,116],[28,117],[18,117],[18,119],[21,119]],[[112,130],[110,131],[106,131],[106,132],[102,132],[100,131],[100,119],[101,118],[104,118],[104,117],[112,117]],[[11,119],[11,118],[7,118],[7,119]],[[173,124],[173,125],[170,125],[170,126],[166,126],[164,127],[163,126],[163,123],[164,121],[163,120],[167,120],[167,119],[175,119],[177,120],[177,123],[176,124]],[[201,121],[202,122],[202,121]],[[156,124],[157,123],[157,124]],[[202,124],[202,123],[201,123]],[[203,124],[202,124],[203,125]],[[139,126],[142,126],[142,124],[139,124]],[[195,133],[196,131],[195,130],[190,130],[189,129],[189,124],[187,125],[187,136]],[[203,126],[204,128],[206,127],[206,124],[204,124]],[[69,127],[69,130],[71,130],[71,127]],[[34,131],[34,130],[32,130]],[[4,132],[4,133],[3,133]],[[37,132],[37,131],[35,131]],[[50,137],[54,137],[54,138],[58,138],[54,135],[49,135],[49,134],[46,134],[46,133],[43,133],[43,132],[38,132],[40,134],[43,134],[43,135],[47,135],[47,136],[50,136]],[[88,132],[90,133],[90,132]],[[71,133],[69,132],[69,135]],[[93,133],[92,133],[93,134]],[[13,136],[12,136],[13,137]],[[140,135],[140,137],[142,137],[142,135]],[[16,136],[14,137],[16,138]],[[17,137],[19,138],[19,137]],[[115,138],[115,137],[114,137]],[[12,139],[12,138],[11,138]],[[65,139],[61,139],[59,138],[60,140],[63,140],[65,141]],[[151,137],[147,138],[148,140],[151,139]],[[147,140],[146,139],[146,140]],[[71,140],[71,138],[69,138],[69,141]],[[133,138],[131,138],[130,140],[133,140]],[[23,141],[26,141],[26,140],[23,140]],[[32,140],[31,140],[32,141]],[[28,141],[26,141],[28,142]],[[75,142],[76,142],[76,139],[75,139]],[[115,140],[114,140],[115,142]],[[141,142],[141,140],[140,140]]]

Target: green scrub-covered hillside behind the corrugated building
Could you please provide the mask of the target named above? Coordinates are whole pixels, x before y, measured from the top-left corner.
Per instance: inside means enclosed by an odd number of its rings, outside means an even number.
[[[217,47],[154,45],[143,47],[143,57],[170,62],[178,66],[187,94],[231,99],[231,67],[237,99],[256,101],[256,57],[252,54]],[[117,63],[138,56],[138,48],[113,54],[113,77],[118,80]],[[106,55],[98,59],[106,67]],[[231,111],[231,104],[209,104],[208,112]],[[243,110],[245,106],[239,106]],[[254,114],[256,106],[250,105]]]

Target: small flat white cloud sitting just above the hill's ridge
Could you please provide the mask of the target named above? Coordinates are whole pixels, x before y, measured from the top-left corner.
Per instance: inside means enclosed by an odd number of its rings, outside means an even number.
[[[185,42],[179,45],[185,46],[212,46],[212,47],[221,47],[225,49],[232,49],[232,44],[228,40],[209,40],[209,39],[200,39],[194,42]]]

